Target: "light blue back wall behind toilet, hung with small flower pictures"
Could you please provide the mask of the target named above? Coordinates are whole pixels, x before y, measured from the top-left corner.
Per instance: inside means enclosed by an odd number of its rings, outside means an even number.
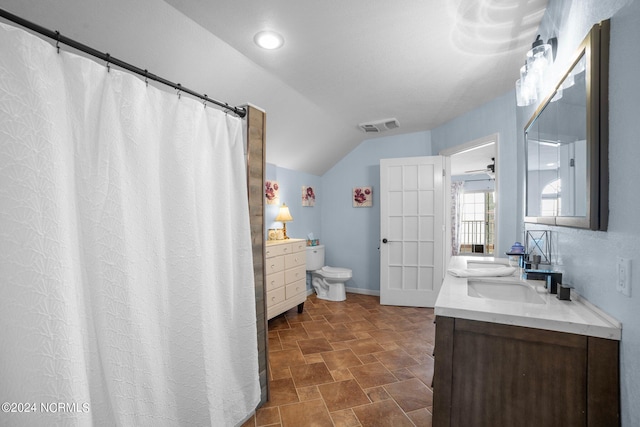
[[[377,295],[380,291],[377,193],[380,159],[428,155],[431,155],[430,132],[380,137],[362,142],[322,178],[275,165],[267,165],[266,177],[278,181],[281,201],[291,204],[294,221],[287,224],[289,236],[304,238],[313,232],[326,247],[327,265],[353,270],[353,279],[346,283],[347,288]],[[315,207],[299,206],[302,185],[317,187]],[[351,191],[357,186],[373,187],[373,207],[352,206]],[[267,207],[267,228],[280,227],[279,223],[271,222],[276,214],[277,207]]]

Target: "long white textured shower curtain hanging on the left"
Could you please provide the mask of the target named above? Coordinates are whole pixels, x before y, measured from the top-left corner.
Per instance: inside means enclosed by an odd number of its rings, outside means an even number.
[[[255,409],[241,120],[0,24],[0,239],[0,425]]]

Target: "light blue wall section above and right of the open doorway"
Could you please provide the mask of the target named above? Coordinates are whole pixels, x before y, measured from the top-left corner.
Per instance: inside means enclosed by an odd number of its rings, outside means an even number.
[[[498,134],[496,158],[496,187],[498,235],[496,254],[500,256],[523,235],[518,226],[522,188],[517,184],[517,131],[516,103],[513,91],[506,93],[480,108],[457,117],[431,131],[433,152]],[[524,163],[524,161],[523,161]],[[520,218],[520,223],[521,223]]]

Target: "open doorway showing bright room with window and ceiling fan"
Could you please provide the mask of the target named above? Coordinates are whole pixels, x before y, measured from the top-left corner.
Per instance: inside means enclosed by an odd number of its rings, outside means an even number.
[[[498,134],[439,153],[447,161],[445,248],[455,255],[495,256],[498,241]],[[448,259],[447,259],[448,260]]]

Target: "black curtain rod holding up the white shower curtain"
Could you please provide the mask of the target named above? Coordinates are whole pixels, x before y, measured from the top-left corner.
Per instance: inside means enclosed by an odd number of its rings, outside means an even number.
[[[101,59],[103,61],[105,61],[107,63],[107,65],[109,64],[113,64],[116,65],[120,68],[124,68],[125,70],[131,71],[132,73],[138,74],[140,76],[143,76],[145,79],[149,79],[149,80],[154,80],[156,82],[162,83],[164,85],[170,86],[180,92],[185,92],[188,93],[189,95],[193,95],[196,98],[200,98],[206,102],[210,102],[211,104],[215,104],[219,107],[222,107],[225,110],[228,111],[232,111],[234,114],[236,114],[238,117],[245,117],[247,115],[247,110],[243,107],[232,107],[229,104],[225,103],[225,102],[220,102],[220,101],[216,101],[215,99],[211,99],[209,98],[207,95],[201,95],[198,92],[195,92],[191,89],[188,89],[184,86],[182,86],[180,83],[173,83],[170,82],[169,80],[163,79],[162,77],[158,77],[155,74],[152,74],[150,72],[148,72],[147,70],[143,70],[141,68],[135,67],[127,62],[121,61],[117,58],[114,58],[113,56],[109,55],[108,53],[102,53],[98,50],[95,50],[89,46],[83,45],[82,43],[79,43],[73,39],[70,39],[68,37],[63,36],[62,34],[60,34],[60,32],[58,31],[51,31],[47,28],[41,27],[40,25],[34,24],[33,22],[27,21],[26,19],[20,18],[19,16],[13,15],[12,13],[7,12],[4,9],[0,9],[0,16],[2,16],[3,18],[14,22],[18,25],[21,25],[23,27],[26,27],[32,31],[35,31],[36,33],[42,34],[43,36],[49,37],[50,39],[55,40],[57,43],[64,43],[67,46],[71,46],[74,49],[77,49],[81,52],[87,53],[91,56],[94,56],[98,59]]]

